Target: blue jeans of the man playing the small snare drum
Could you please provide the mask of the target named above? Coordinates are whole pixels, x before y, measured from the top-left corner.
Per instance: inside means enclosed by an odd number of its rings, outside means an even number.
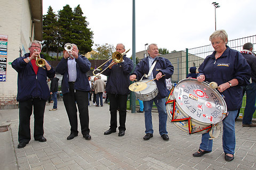
[[[166,113],[166,107],[165,107],[165,98],[162,99],[151,99],[149,101],[143,101],[144,104],[144,111],[145,111],[145,127],[146,131],[145,133],[154,133],[153,125],[152,125],[152,115],[151,110],[153,103],[155,101],[157,111],[158,111],[158,118],[159,118],[159,134],[167,134],[166,131],[166,121],[167,121],[167,113]]]

